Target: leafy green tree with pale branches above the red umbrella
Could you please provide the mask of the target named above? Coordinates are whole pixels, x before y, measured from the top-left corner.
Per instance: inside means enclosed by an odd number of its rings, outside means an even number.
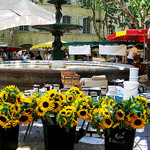
[[[108,26],[112,24],[116,24],[118,28],[123,29],[145,28],[146,17],[150,15],[150,0],[80,0],[80,2],[81,1],[83,4],[88,4],[82,6],[86,9],[92,9],[92,4],[96,3],[97,8],[104,12],[105,17],[103,23],[107,28],[107,34],[109,34]],[[93,9],[93,11],[95,10]],[[93,17],[91,18],[92,20],[94,19]],[[99,20],[101,20],[101,18],[99,18]]]

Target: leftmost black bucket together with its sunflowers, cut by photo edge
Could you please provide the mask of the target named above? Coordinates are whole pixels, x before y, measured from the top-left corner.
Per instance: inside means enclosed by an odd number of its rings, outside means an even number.
[[[0,91],[0,149],[16,150],[18,147],[19,124],[33,120],[32,100],[9,85]]]

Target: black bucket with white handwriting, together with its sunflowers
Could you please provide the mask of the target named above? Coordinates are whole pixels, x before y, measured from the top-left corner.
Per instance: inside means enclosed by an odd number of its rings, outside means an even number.
[[[132,150],[136,129],[150,120],[147,99],[136,96],[129,100],[100,97],[92,111],[92,127],[104,131],[105,150]]]

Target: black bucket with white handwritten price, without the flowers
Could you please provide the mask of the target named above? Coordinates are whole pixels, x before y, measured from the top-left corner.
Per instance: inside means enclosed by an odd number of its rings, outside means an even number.
[[[105,130],[105,150],[132,150],[135,138],[135,129],[110,129]]]

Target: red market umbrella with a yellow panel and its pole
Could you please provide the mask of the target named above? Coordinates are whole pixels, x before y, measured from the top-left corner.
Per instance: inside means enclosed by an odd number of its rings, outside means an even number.
[[[107,37],[108,41],[136,41],[144,43],[144,61],[145,61],[145,43],[150,43],[148,38],[148,29],[135,29],[116,32]]]

